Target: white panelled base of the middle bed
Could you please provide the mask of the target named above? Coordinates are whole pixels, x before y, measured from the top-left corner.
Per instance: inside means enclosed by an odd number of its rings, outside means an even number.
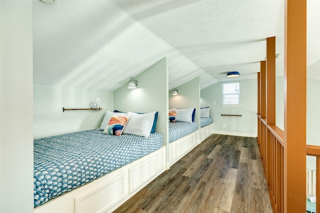
[[[169,143],[169,167],[199,144],[199,130]]]

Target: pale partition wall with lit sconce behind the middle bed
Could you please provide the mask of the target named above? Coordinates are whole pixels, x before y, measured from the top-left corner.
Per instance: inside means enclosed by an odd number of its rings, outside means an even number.
[[[200,81],[199,77],[176,87],[178,95],[172,95],[173,89],[169,91],[169,109],[195,108],[194,121],[200,128]]]

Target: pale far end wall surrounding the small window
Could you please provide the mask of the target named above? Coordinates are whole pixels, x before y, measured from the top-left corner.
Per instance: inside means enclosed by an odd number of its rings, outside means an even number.
[[[200,106],[210,107],[214,133],[256,137],[257,79],[236,80],[235,78],[233,81],[240,82],[240,107],[222,107],[222,82],[200,91]],[[214,101],[216,105],[213,105]],[[242,116],[221,116],[221,114],[241,114]],[[222,124],[226,127],[222,128]]]

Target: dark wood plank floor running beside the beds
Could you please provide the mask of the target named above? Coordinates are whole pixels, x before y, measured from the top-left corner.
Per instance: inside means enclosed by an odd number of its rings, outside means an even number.
[[[272,213],[256,139],[211,135],[114,213]]]

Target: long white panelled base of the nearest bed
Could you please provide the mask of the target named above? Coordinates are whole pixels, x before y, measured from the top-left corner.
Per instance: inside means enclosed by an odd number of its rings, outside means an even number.
[[[34,208],[34,213],[109,213],[164,171],[163,146],[87,185]]]

